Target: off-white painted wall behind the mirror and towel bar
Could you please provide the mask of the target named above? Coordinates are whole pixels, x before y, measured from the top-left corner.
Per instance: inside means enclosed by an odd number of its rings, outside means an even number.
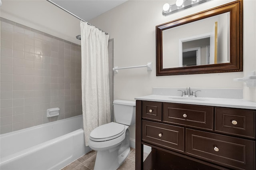
[[[134,100],[134,97],[150,95],[152,87],[244,88],[243,83],[233,79],[256,70],[256,1],[244,0],[244,72],[156,76],[157,25],[232,1],[213,0],[165,17],[162,6],[166,2],[170,3],[169,0],[130,0],[90,20],[114,38],[115,66],[153,63],[152,71],[146,68],[119,70],[114,75],[114,99]],[[255,87],[245,87],[244,91],[244,99],[256,101]],[[131,138],[135,138],[135,128],[130,131]]]

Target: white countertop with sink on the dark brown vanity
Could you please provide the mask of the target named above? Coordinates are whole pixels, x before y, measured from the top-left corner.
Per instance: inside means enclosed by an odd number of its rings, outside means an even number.
[[[218,107],[232,107],[241,109],[256,109],[256,102],[246,101],[244,99],[225,99],[225,98],[207,98],[196,97],[190,99],[189,97],[166,96],[166,95],[148,95],[136,97],[135,100],[158,101],[168,103],[181,103],[191,105],[205,105]]]

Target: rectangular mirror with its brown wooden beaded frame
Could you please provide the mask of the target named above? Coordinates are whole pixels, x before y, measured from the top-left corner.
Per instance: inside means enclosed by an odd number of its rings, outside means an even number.
[[[156,75],[242,71],[242,0],[156,26]]]

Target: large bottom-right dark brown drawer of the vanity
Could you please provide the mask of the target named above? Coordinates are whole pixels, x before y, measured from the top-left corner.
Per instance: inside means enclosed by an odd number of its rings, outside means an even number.
[[[186,129],[186,153],[235,169],[255,169],[255,141]]]

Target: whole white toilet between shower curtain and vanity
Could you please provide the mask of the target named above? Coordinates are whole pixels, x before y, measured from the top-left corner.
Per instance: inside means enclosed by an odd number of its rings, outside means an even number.
[[[129,126],[135,125],[135,101],[114,100],[116,122],[90,133],[89,146],[97,151],[94,170],[116,170],[130,152]]]

